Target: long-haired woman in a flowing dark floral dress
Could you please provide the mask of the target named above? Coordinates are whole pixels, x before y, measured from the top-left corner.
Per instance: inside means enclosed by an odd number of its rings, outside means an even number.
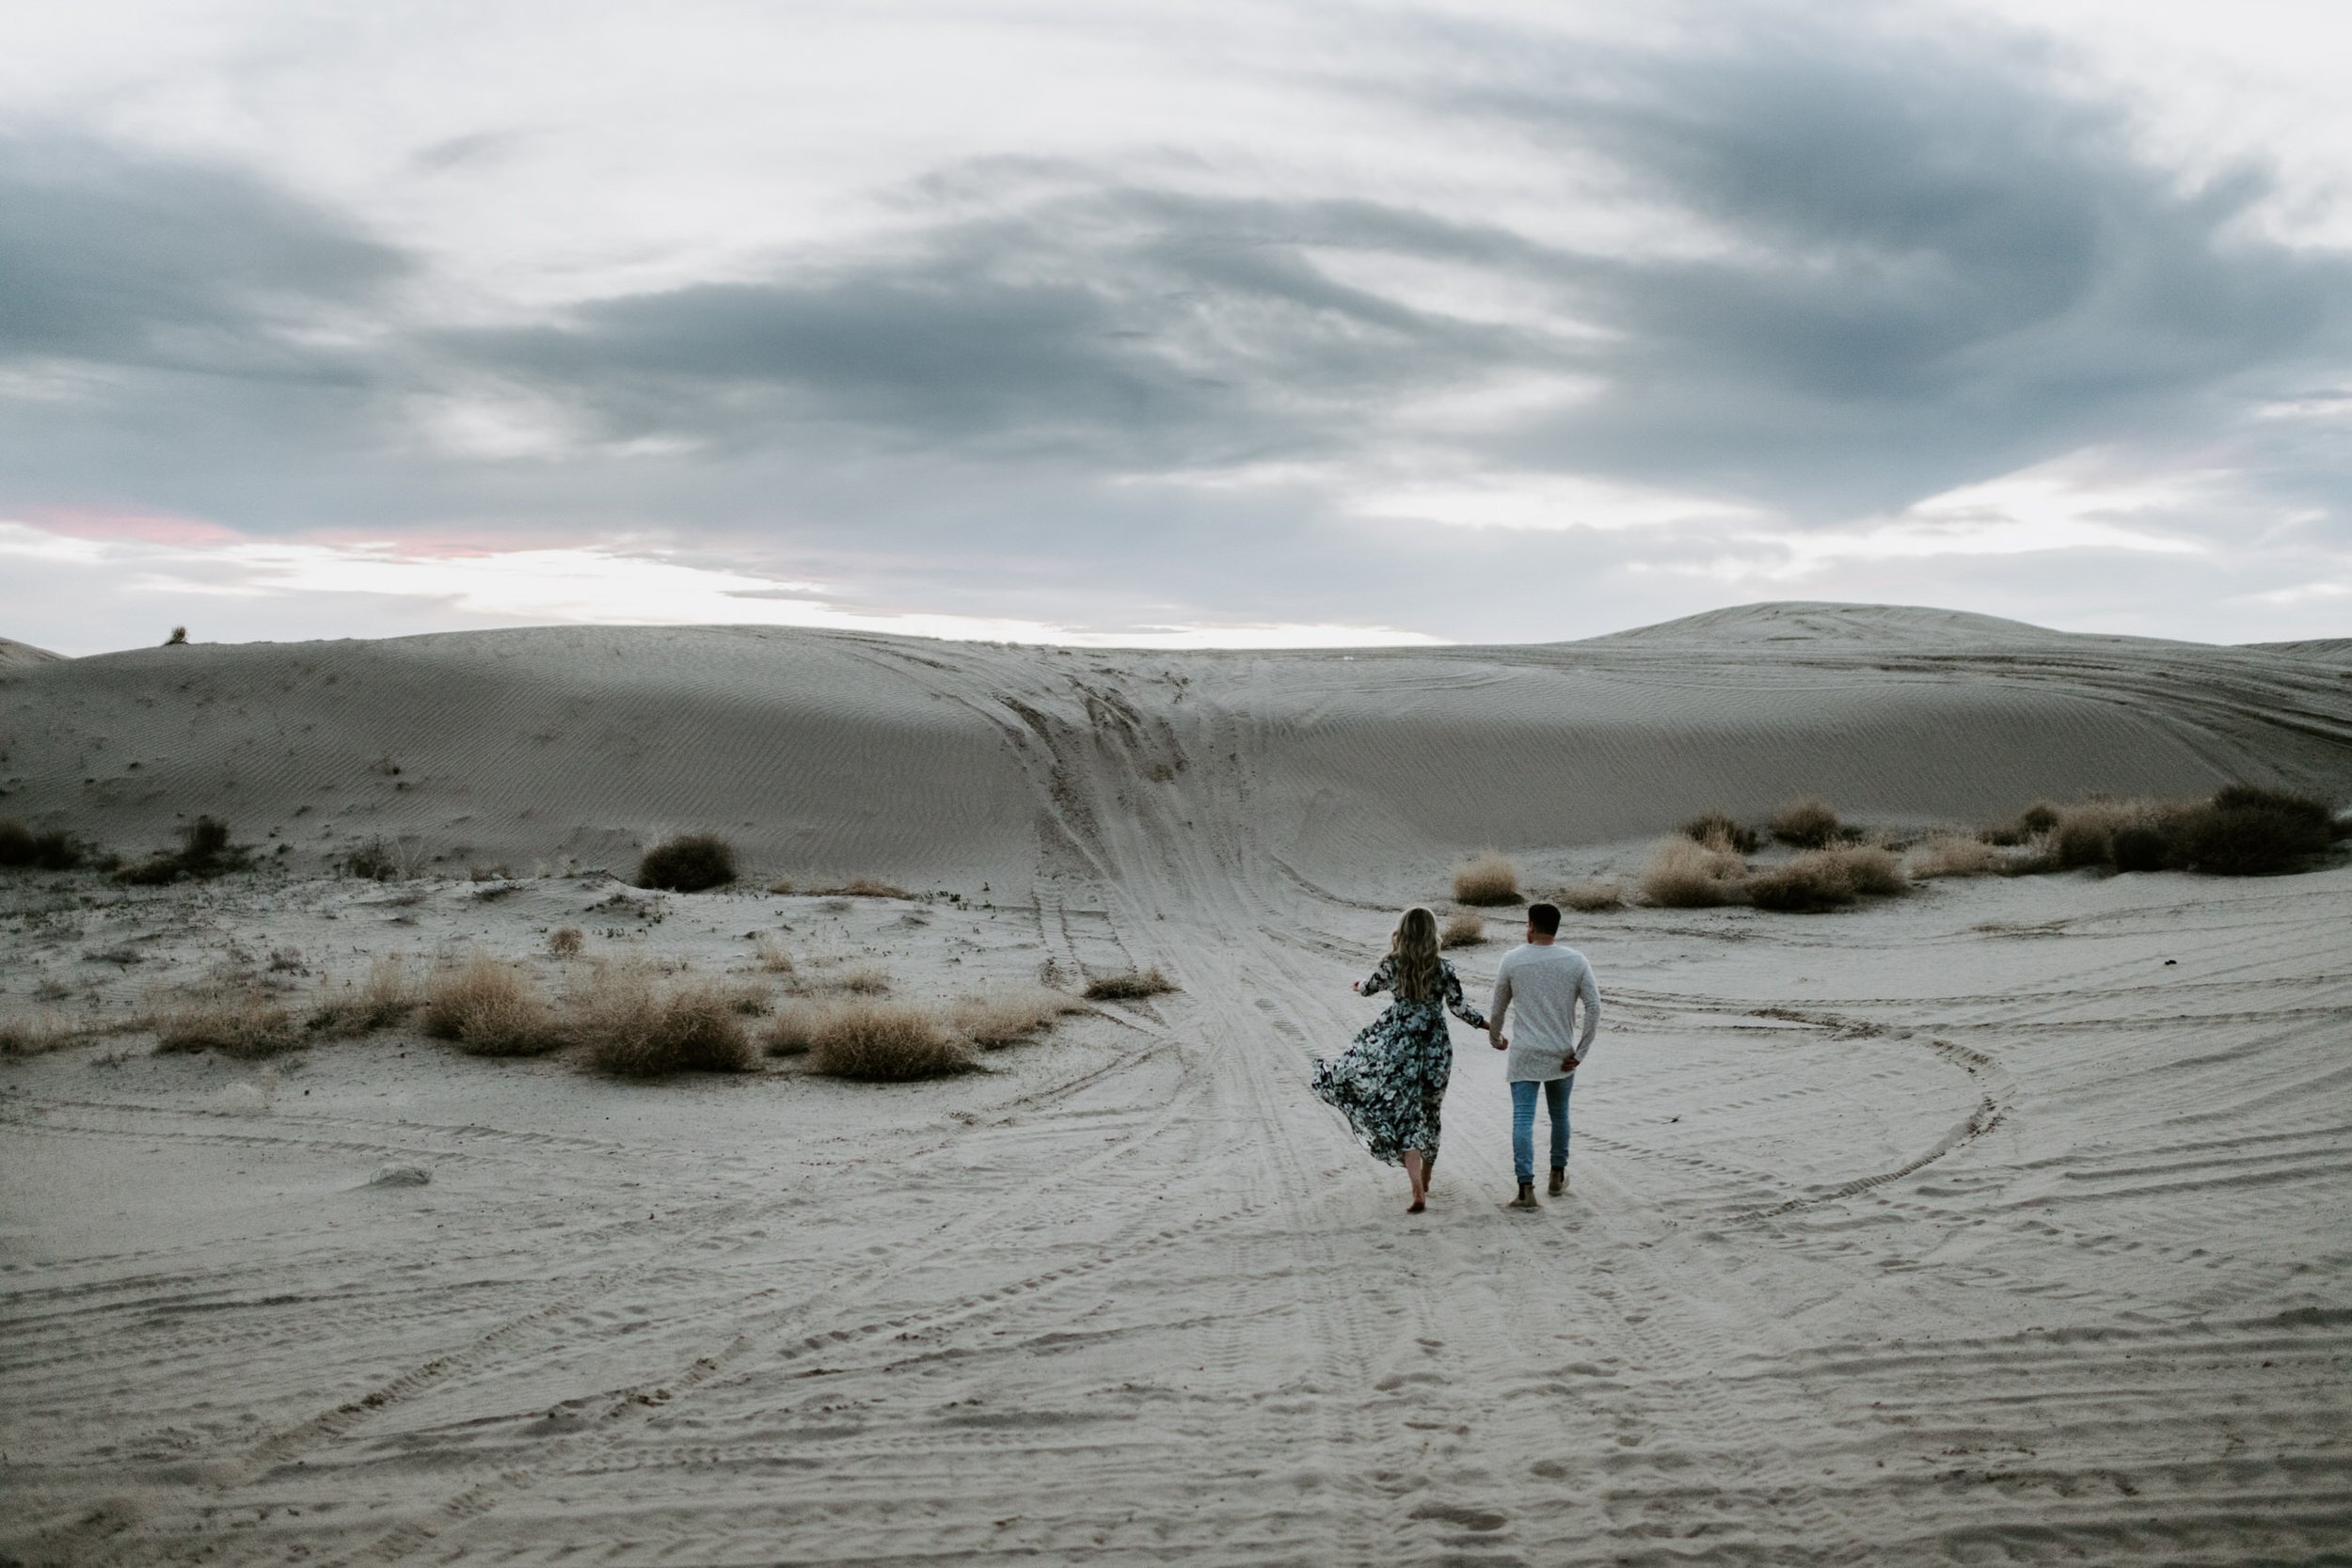
[[[1486,1020],[1463,1001],[1454,966],[1437,957],[1437,917],[1428,910],[1404,912],[1388,938],[1388,957],[1352,990],[1362,997],[1390,990],[1397,1001],[1364,1025],[1343,1056],[1315,1063],[1315,1098],[1348,1117],[1364,1152],[1404,1166],[1414,1182],[1414,1204],[1404,1213],[1421,1213],[1430,1197],[1430,1166],[1437,1164],[1437,1105],[1454,1074],[1444,1009],[1472,1030],[1484,1030]]]

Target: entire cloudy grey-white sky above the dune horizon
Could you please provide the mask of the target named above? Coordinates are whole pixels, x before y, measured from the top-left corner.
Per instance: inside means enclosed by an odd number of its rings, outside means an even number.
[[[0,635],[2352,635],[2352,12],[0,19]]]

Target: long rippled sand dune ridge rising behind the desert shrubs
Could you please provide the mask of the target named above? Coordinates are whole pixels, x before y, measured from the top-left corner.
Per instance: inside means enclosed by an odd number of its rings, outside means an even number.
[[[2037,795],[2343,778],[2352,684],[2326,661],[2011,625],[1750,607],[1355,656],[757,628],[141,649],[0,675],[0,809],[125,849],[209,811],[296,867],[372,837],[626,867],[708,827],[762,867],[953,886],[1018,879],[1040,846],[1108,872],[1207,839],[1345,879],[1795,792],[1985,820]]]

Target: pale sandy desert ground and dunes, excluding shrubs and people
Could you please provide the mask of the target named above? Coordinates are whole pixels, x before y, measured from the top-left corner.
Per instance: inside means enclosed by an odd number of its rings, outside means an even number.
[[[1799,792],[1912,835],[2230,780],[2352,795],[2345,644],[1773,604],[1352,656],[7,658],[0,818],[146,853],[214,813],[259,870],[0,872],[0,1013],[80,1030],[0,1060],[0,1561],[2352,1561],[2340,853],[1571,912],[1604,1023],[1534,1215],[1484,1037],[1421,1218],[1305,1093],[1482,846],[1541,891]],[[743,879],[623,886],[680,830]],[[1512,931],[1451,954],[1472,997]],[[139,1027],[381,954],[781,990],[760,938],[924,1001],[1181,990],[924,1084]]]

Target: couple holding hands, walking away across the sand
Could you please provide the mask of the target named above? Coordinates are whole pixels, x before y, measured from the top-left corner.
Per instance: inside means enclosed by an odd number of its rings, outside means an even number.
[[[1414,907],[1397,922],[1388,957],[1357,980],[1364,997],[1392,992],[1395,1004],[1374,1018],[1341,1056],[1315,1063],[1315,1098],[1348,1119],[1357,1143],[1392,1166],[1404,1166],[1414,1204],[1423,1213],[1430,1166],[1437,1164],[1437,1110],[1454,1074],[1454,1039],[1446,1011],[1475,1030],[1486,1030],[1496,1051],[1508,1051],[1510,1154],[1519,1194],[1510,1208],[1536,1208],[1536,1100],[1552,1121],[1552,1194],[1566,1192],[1569,1091],[1576,1067],[1592,1048],[1602,997],[1592,964],[1559,945],[1559,910],[1526,907],[1526,945],[1503,957],[1494,980],[1494,1006],[1479,1016],[1463,1001],[1463,983],[1437,952],[1437,917]],[[1583,1004],[1583,1030],[1576,1009]],[[1503,1034],[1503,1018],[1517,1006],[1517,1034]]]

